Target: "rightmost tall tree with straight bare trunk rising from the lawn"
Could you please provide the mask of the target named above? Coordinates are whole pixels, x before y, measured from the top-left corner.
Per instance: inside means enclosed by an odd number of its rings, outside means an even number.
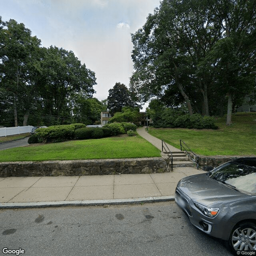
[[[226,124],[232,123],[235,98],[253,90],[256,63],[256,1],[218,0],[214,2],[215,24],[222,28],[206,60],[215,81],[228,99]]]

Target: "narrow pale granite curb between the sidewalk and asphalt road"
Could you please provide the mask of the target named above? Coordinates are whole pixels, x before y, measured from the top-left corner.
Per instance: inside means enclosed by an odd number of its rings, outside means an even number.
[[[56,201],[56,202],[26,202],[26,203],[0,203],[0,209],[17,209],[17,208],[45,208],[59,206],[102,206],[118,204],[142,204],[173,201],[174,196],[150,196],[140,198],[125,199],[105,199],[105,200],[76,200],[76,201]]]

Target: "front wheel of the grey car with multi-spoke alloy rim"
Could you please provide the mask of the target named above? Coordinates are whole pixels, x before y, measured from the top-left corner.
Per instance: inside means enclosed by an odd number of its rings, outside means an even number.
[[[230,234],[229,245],[233,251],[256,250],[256,225],[253,222],[241,222]]]

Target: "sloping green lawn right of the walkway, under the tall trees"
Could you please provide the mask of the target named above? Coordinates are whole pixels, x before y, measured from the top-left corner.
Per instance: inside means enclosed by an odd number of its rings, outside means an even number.
[[[148,132],[180,148],[182,139],[193,152],[205,155],[256,155],[256,113],[235,113],[231,126],[219,118],[219,130],[183,128],[149,128]]]

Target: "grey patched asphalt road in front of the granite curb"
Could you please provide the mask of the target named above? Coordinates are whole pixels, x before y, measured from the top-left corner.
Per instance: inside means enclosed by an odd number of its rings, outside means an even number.
[[[33,256],[232,255],[175,202],[0,210],[1,253],[4,247]]]

